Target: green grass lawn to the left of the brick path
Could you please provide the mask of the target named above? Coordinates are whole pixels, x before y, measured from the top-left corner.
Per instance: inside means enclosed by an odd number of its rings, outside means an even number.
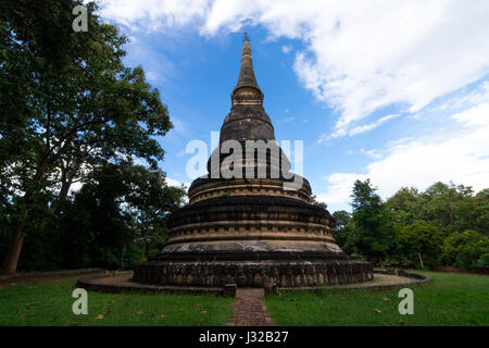
[[[88,314],[75,315],[76,278],[0,287],[0,325],[224,325],[234,299],[214,295],[88,293]]]

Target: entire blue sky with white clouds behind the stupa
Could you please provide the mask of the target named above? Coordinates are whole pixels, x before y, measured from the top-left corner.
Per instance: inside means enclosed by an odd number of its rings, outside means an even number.
[[[242,32],[277,140],[303,140],[303,174],[330,211],[354,179],[383,198],[436,181],[489,187],[489,7],[474,1],[102,1],[130,38],[174,123],[172,184],[190,183],[190,140],[229,112]],[[401,5],[402,4],[402,5]]]

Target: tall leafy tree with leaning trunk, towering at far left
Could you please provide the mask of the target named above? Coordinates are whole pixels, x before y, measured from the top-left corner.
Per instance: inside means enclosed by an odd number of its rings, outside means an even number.
[[[61,182],[65,196],[87,166],[131,157],[163,159],[154,139],[172,127],[140,67],[124,66],[126,37],[88,7],[72,28],[75,0],[5,1],[0,14],[0,165],[15,221],[3,272],[16,271],[36,197]],[[61,176],[61,178],[60,178]],[[15,187],[9,187],[14,185]],[[21,192],[21,194],[20,194]]]

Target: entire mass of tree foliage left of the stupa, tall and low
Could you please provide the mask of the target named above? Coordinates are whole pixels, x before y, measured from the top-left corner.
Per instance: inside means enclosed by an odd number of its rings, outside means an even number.
[[[78,4],[86,33],[72,28]],[[95,2],[0,10],[0,253],[24,235],[23,270],[134,263],[185,196],[158,170],[156,137],[172,128],[159,90],[124,65],[127,38]]]

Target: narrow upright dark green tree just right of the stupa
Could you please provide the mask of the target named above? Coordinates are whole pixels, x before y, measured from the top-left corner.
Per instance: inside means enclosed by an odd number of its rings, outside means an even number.
[[[383,260],[391,248],[392,233],[387,210],[380,196],[367,178],[356,181],[353,186],[353,243],[359,252],[383,265]]]

